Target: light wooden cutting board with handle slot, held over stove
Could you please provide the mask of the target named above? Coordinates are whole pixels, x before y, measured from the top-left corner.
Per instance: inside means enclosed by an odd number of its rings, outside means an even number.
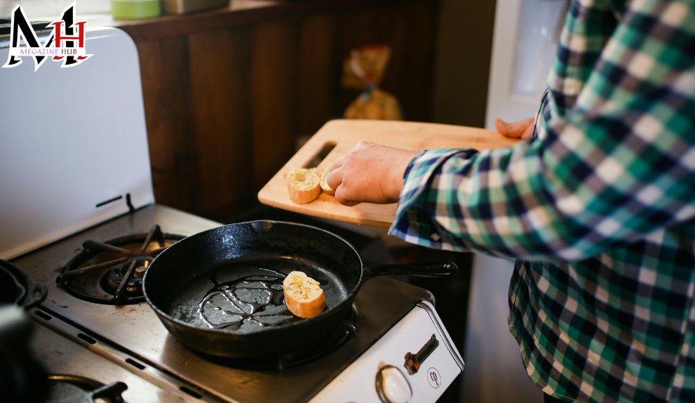
[[[395,217],[396,204],[362,203],[347,207],[325,193],[321,193],[318,199],[309,204],[296,204],[288,196],[285,175],[293,167],[313,167],[318,164],[318,170],[322,172],[338,157],[347,154],[347,151],[360,140],[412,151],[437,148],[494,149],[509,147],[517,142],[496,131],[466,126],[384,120],[332,120],[313,135],[263,186],[259,192],[259,201],[268,206],[315,217],[374,227],[390,227]],[[320,161],[321,156],[331,146],[334,148]]]

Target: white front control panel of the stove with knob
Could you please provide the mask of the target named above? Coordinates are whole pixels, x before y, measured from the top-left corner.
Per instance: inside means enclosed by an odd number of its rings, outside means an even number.
[[[433,334],[439,345],[410,375],[404,366],[406,353],[416,354]],[[434,306],[420,302],[311,402],[382,402],[377,393],[379,372],[390,402],[435,402],[463,370],[464,361]]]

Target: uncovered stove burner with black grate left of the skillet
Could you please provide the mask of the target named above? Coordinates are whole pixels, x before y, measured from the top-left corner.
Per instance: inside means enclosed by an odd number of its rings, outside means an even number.
[[[56,279],[72,295],[101,304],[145,301],[142,277],[149,263],[183,236],[162,233],[158,225],[148,233],[99,242],[86,240],[83,251],[65,265]]]

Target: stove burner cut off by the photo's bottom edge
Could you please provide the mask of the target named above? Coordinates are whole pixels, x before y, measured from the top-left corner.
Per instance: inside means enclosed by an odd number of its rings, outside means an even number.
[[[123,382],[105,385],[78,375],[49,375],[48,379],[47,402],[92,403],[97,399],[109,403],[124,402],[121,393],[128,388]]]

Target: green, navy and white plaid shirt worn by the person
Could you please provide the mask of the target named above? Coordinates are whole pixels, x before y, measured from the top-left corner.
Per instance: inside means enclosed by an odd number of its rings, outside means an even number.
[[[532,140],[418,154],[390,233],[523,259],[543,392],[695,402],[695,2],[572,1],[548,85]]]

